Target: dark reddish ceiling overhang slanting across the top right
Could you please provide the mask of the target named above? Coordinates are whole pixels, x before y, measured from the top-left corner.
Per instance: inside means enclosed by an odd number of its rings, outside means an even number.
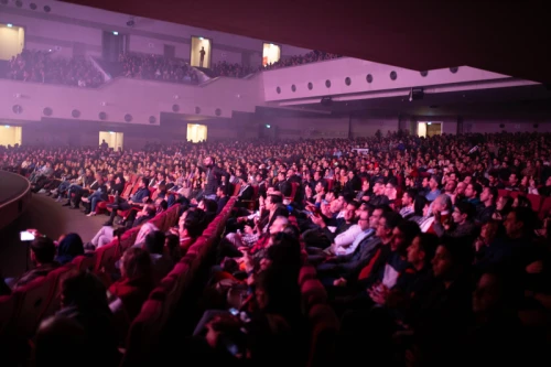
[[[467,65],[551,83],[542,0],[65,1],[415,71]]]

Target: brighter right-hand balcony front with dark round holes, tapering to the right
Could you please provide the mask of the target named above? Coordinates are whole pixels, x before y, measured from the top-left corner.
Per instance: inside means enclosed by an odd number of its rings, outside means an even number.
[[[268,71],[262,78],[264,100],[278,106],[309,104],[323,97],[337,100],[390,97],[413,87],[441,93],[447,91],[442,89],[445,86],[476,89],[483,85],[501,87],[510,82],[536,84],[468,66],[417,72],[349,57]]]

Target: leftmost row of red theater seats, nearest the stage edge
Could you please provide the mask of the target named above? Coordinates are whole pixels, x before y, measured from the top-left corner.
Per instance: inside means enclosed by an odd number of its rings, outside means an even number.
[[[160,230],[168,230],[177,223],[180,205],[170,207],[150,220]],[[29,284],[18,288],[11,295],[0,296],[0,336],[10,335],[18,339],[34,335],[39,323],[60,309],[61,281],[74,269],[90,270],[109,279],[117,260],[136,241],[140,227],[125,233],[120,242],[115,238],[90,256],[79,256],[72,263],[65,265]]]

